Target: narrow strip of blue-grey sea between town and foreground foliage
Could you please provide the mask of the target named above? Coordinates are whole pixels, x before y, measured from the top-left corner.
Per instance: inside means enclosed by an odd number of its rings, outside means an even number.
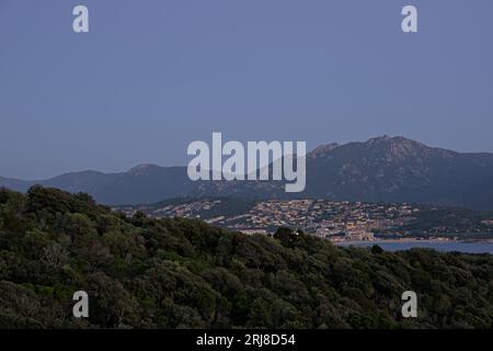
[[[491,241],[433,241],[433,240],[375,240],[375,241],[345,241],[336,246],[372,247],[378,245],[386,251],[404,251],[412,248],[434,249],[442,252],[490,253],[493,254]]]

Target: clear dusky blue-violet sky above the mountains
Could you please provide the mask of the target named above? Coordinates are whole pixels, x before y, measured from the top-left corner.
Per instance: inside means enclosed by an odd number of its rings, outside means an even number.
[[[186,165],[213,132],[493,152],[492,43],[491,0],[0,0],[0,176]]]

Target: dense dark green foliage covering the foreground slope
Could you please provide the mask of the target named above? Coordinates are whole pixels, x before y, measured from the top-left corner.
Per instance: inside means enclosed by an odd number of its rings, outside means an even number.
[[[72,294],[90,317],[72,317]],[[401,317],[404,291],[419,318]],[[0,190],[0,328],[492,328],[493,257],[342,249]]]

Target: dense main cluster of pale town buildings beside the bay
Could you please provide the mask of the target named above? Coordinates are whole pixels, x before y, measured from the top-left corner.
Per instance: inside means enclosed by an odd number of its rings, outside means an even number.
[[[221,218],[217,224],[234,230],[264,228],[270,233],[278,227],[287,226],[333,241],[371,241],[374,233],[402,226],[419,211],[408,204],[388,205],[326,200],[267,201],[259,203],[241,217]]]

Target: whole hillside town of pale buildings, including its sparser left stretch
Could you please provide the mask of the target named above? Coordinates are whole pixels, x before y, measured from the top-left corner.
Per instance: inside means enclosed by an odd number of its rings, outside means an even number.
[[[214,215],[218,212],[214,207],[222,201],[196,200],[133,211],[139,210],[153,217],[202,218],[211,225],[245,234],[267,235],[279,227],[290,227],[332,241],[374,240],[375,233],[400,227],[420,211],[410,204],[271,200],[257,202],[244,213]]]

